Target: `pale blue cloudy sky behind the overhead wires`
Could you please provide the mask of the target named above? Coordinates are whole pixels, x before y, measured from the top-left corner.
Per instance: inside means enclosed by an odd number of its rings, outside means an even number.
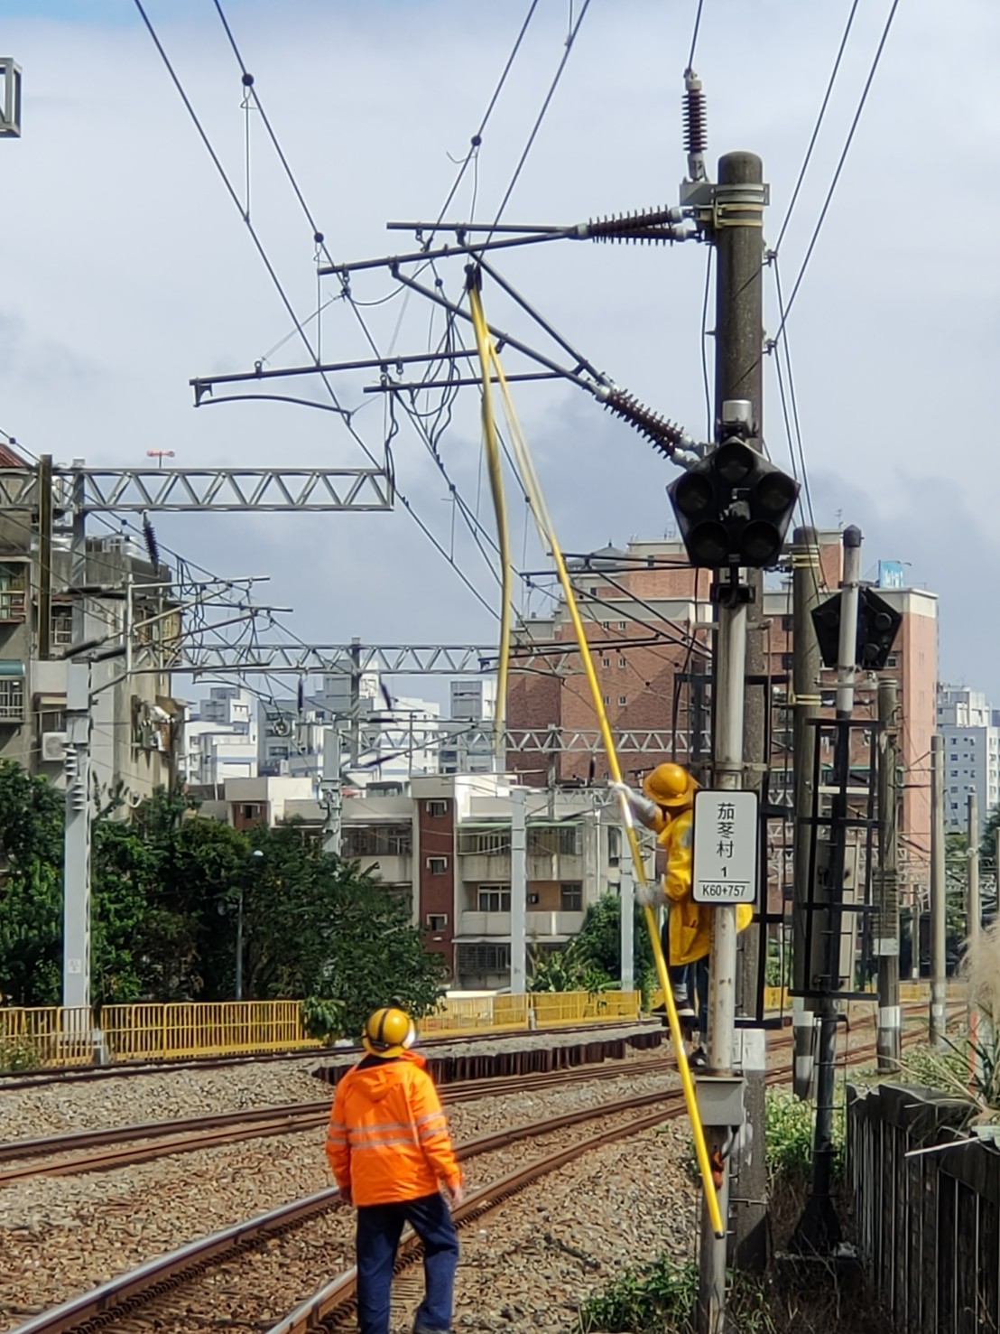
[[[237,189],[244,113],[211,0],[148,0],[149,15]],[[575,12],[579,15],[579,4]],[[819,107],[847,0],[705,0],[696,67],[708,93],[709,159],[753,148],[772,188],[773,244]],[[525,3],[487,0],[229,0],[256,87],[337,256],[404,244],[389,217],[433,216],[520,25]],[[684,172],[679,107],[695,4],[592,0],[564,80],[507,211],[575,221],[673,201]],[[781,252],[791,287],[819,215],[888,12],[859,7],[841,77]],[[563,53],[568,5],[543,0],[497,101],[476,177],[492,216]],[[24,136],[0,145],[4,213],[0,427],[35,452],[143,464],[361,464],[328,415],[276,404],[195,412],[188,380],[248,370],[289,332],[236,209],[215,175],[131,0],[4,5],[0,44],[24,68]],[[984,430],[984,386],[1000,352],[1000,179],[988,0],[900,5],[881,67],[809,263],[788,332],[816,519],[861,522],[867,566],[911,562],[941,595],[943,672],[1000,706],[993,619],[981,606],[1000,550],[1000,466]],[[752,77],[748,79],[748,72]],[[251,125],[252,216],[303,317],[315,311],[311,231],[261,127]],[[468,179],[451,209],[473,205]],[[551,245],[501,271],[599,366],[640,399],[703,431],[699,323],[705,253]],[[460,288],[455,267],[444,273]],[[380,347],[421,351],[429,312],[359,275]],[[320,299],[333,295],[329,280]],[[487,312],[540,342],[501,292]],[[773,287],[768,285],[773,332]],[[343,303],[321,316],[324,355],[365,355]],[[311,325],[312,327],[312,325]],[[440,324],[435,336],[440,334]],[[293,342],[271,364],[301,358]],[[769,367],[765,434],[787,463]],[[381,450],[381,406],[365,382],[343,394]],[[519,390],[549,503],[569,548],[623,543],[671,524],[669,467],[568,388]],[[475,396],[460,399],[441,458],[475,508]],[[451,547],[451,506],[412,434],[393,442],[400,486]],[[540,554],[516,548],[529,567]],[[480,498],[480,514],[489,523]],[[271,574],[307,638],[381,642],[489,638],[492,619],[403,512],[327,518],[161,516],[161,538],[224,574]],[[495,584],[457,530],[455,554],[484,596]],[[304,580],[303,572],[309,572]],[[533,606],[540,610],[536,600]]]

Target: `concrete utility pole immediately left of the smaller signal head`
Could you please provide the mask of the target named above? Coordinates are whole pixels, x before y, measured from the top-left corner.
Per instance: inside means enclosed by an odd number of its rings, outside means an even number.
[[[809,832],[805,820],[812,815],[815,799],[813,766],[816,763],[816,728],[811,718],[820,716],[820,671],[823,659],[812,623],[812,611],[820,603],[820,547],[815,528],[796,528],[792,539],[792,778],[795,782],[795,826],[792,830],[792,960],[799,983],[805,987],[808,955],[805,952],[805,908],[809,899]],[[796,1098],[812,1095],[813,1051],[816,1046],[815,1002],[805,996],[792,1000],[792,1035],[795,1065],[792,1090]]]

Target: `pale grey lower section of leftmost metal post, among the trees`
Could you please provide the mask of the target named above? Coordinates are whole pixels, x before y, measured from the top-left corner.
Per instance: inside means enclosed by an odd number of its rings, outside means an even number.
[[[91,664],[67,666],[65,834],[63,867],[63,1005],[91,1005]],[[89,1029],[89,1017],[69,1021]]]

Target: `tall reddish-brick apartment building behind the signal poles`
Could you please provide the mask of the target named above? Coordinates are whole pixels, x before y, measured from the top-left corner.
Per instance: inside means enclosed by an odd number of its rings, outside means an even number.
[[[839,530],[819,534],[821,590],[835,592],[841,579],[843,547]],[[692,570],[679,540],[633,539],[625,548],[605,547],[571,562],[580,610],[595,655],[604,704],[613,730],[661,732],[665,744],[648,743],[639,754],[623,751],[627,776],[637,780],[655,764],[676,760],[696,775],[707,771],[711,716],[711,623],[708,600],[709,572]],[[879,592],[903,623],[887,674],[899,680],[901,710],[900,744],[907,779],[900,822],[904,874],[911,886],[924,894],[929,858],[929,778],[927,755],[936,726],[935,688],[937,670],[937,599],[921,588],[903,587],[904,567],[897,562],[879,566]],[[776,804],[791,810],[791,711],[789,674],[792,666],[791,576],[776,572],[765,578],[764,594],[765,659],[772,678],[769,692],[772,734],[772,790]],[[575,643],[564,606],[543,620],[531,623],[540,640]],[[835,674],[824,671],[816,683],[824,711],[833,711]],[[763,687],[761,687],[763,688]],[[876,716],[877,678],[859,678],[856,712]],[[561,674],[516,672],[512,675],[508,722],[513,728],[564,732],[597,728],[589,690],[579,656],[569,650]],[[852,764],[859,784],[867,780],[868,750],[864,735],[855,742]],[[831,756],[832,759],[832,756]],[[607,763],[599,752],[561,754],[548,758],[524,752],[508,758],[511,768],[529,784],[547,782],[601,780]],[[791,892],[791,830],[772,822],[769,848],[769,902],[779,910]]]

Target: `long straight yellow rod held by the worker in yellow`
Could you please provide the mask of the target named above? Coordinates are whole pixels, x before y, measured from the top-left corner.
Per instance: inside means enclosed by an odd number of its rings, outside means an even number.
[[[492,339],[489,336],[489,329],[483,313],[483,301],[480,293],[476,288],[469,288],[469,303],[472,309],[472,320],[476,329],[476,346],[483,358],[484,348],[488,351],[489,363],[483,367],[483,382],[488,382],[488,371],[492,368],[496,371],[497,380],[500,382],[500,392],[504,402],[504,412],[507,416],[511,446],[513,448],[515,459],[521,474],[521,482],[524,483],[525,494],[528,496],[528,503],[531,504],[532,512],[535,515],[535,522],[541,534],[541,539],[548,544],[552,551],[552,559],[556,563],[556,570],[559,571],[559,582],[563,586],[563,596],[565,598],[567,610],[569,611],[569,618],[573,623],[573,630],[576,632],[576,640],[580,650],[580,659],[584,664],[584,671],[587,674],[587,682],[591,687],[591,695],[593,696],[593,707],[597,714],[597,722],[600,724],[601,739],[604,740],[604,748],[608,755],[608,770],[611,772],[612,780],[615,783],[621,783],[621,766],[619,763],[617,750],[615,748],[615,738],[611,731],[611,723],[608,722],[608,715],[604,708],[604,700],[601,698],[600,683],[597,680],[597,672],[593,667],[593,658],[591,655],[591,644],[587,639],[584,631],[583,620],[580,619],[580,611],[576,603],[576,595],[573,592],[573,586],[569,582],[569,574],[565,567],[565,560],[563,559],[563,550],[556,538],[555,527],[552,519],[548,514],[545,506],[545,498],[541,491],[541,483],[539,482],[537,472],[535,471],[535,463],[532,460],[531,452],[528,450],[528,443],[521,432],[517,415],[515,412],[513,400],[511,398],[511,390],[507,383],[507,376],[500,364],[500,358],[497,356],[496,348],[493,347]],[[485,412],[485,406],[484,406]],[[649,878],[645,874],[645,863],[643,860],[643,852],[639,846],[639,836],[636,834],[635,820],[632,819],[632,808],[628,804],[625,794],[619,790],[619,798],[621,802],[621,820],[625,826],[625,832],[628,835],[628,844],[632,852],[632,864],[635,867],[635,875],[639,883],[648,888]],[[653,951],[653,959],[656,960],[656,974],[660,979],[660,987],[664,994],[664,1003],[667,1006],[667,1018],[671,1027],[671,1038],[673,1039],[673,1047],[677,1053],[677,1070],[680,1071],[680,1082],[684,1089],[684,1102],[688,1110],[688,1118],[691,1121],[691,1130],[695,1138],[695,1153],[697,1155],[699,1171],[701,1174],[701,1182],[705,1190],[705,1202],[708,1205],[708,1213],[712,1222],[712,1231],[717,1238],[725,1237],[725,1225],[723,1222],[721,1210],[719,1207],[719,1194],[716,1191],[715,1181],[712,1177],[712,1163],[708,1157],[708,1145],[705,1143],[705,1133],[701,1125],[701,1115],[697,1106],[697,1094],[695,1091],[695,1081],[691,1075],[691,1066],[688,1065],[687,1050],[684,1047],[684,1035],[680,1030],[680,1019],[677,1018],[677,1007],[673,1003],[673,992],[671,990],[669,974],[667,971],[667,959],[664,958],[663,944],[660,942],[660,931],[656,922],[656,914],[653,912],[649,903],[644,904],[645,924],[649,931],[649,943]]]

